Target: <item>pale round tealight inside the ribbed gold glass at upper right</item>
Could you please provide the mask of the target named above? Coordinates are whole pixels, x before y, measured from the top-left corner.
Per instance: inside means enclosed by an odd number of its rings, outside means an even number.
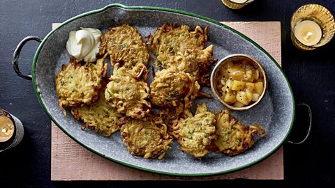
[[[317,23],[311,20],[304,20],[295,26],[295,37],[302,44],[313,46],[321,40],[322,30]]]

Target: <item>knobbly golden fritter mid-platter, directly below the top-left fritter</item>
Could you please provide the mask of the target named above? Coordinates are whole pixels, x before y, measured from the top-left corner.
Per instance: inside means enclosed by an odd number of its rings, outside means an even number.
[[[148,71],[145,65],[139,63],[129,70],[114,65],[114,71],[105,90],[105,98],[119,113],[140,119],[146,116],[151,104],[149,100],[149,87],[147,84]]]

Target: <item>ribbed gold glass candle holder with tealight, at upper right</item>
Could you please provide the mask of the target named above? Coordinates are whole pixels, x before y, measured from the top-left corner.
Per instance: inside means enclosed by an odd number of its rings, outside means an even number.
[[[327,44],[334,37],[335,21],[324,6],[306,4],[291,19],[291,39],[298,49],[312,50]]]

